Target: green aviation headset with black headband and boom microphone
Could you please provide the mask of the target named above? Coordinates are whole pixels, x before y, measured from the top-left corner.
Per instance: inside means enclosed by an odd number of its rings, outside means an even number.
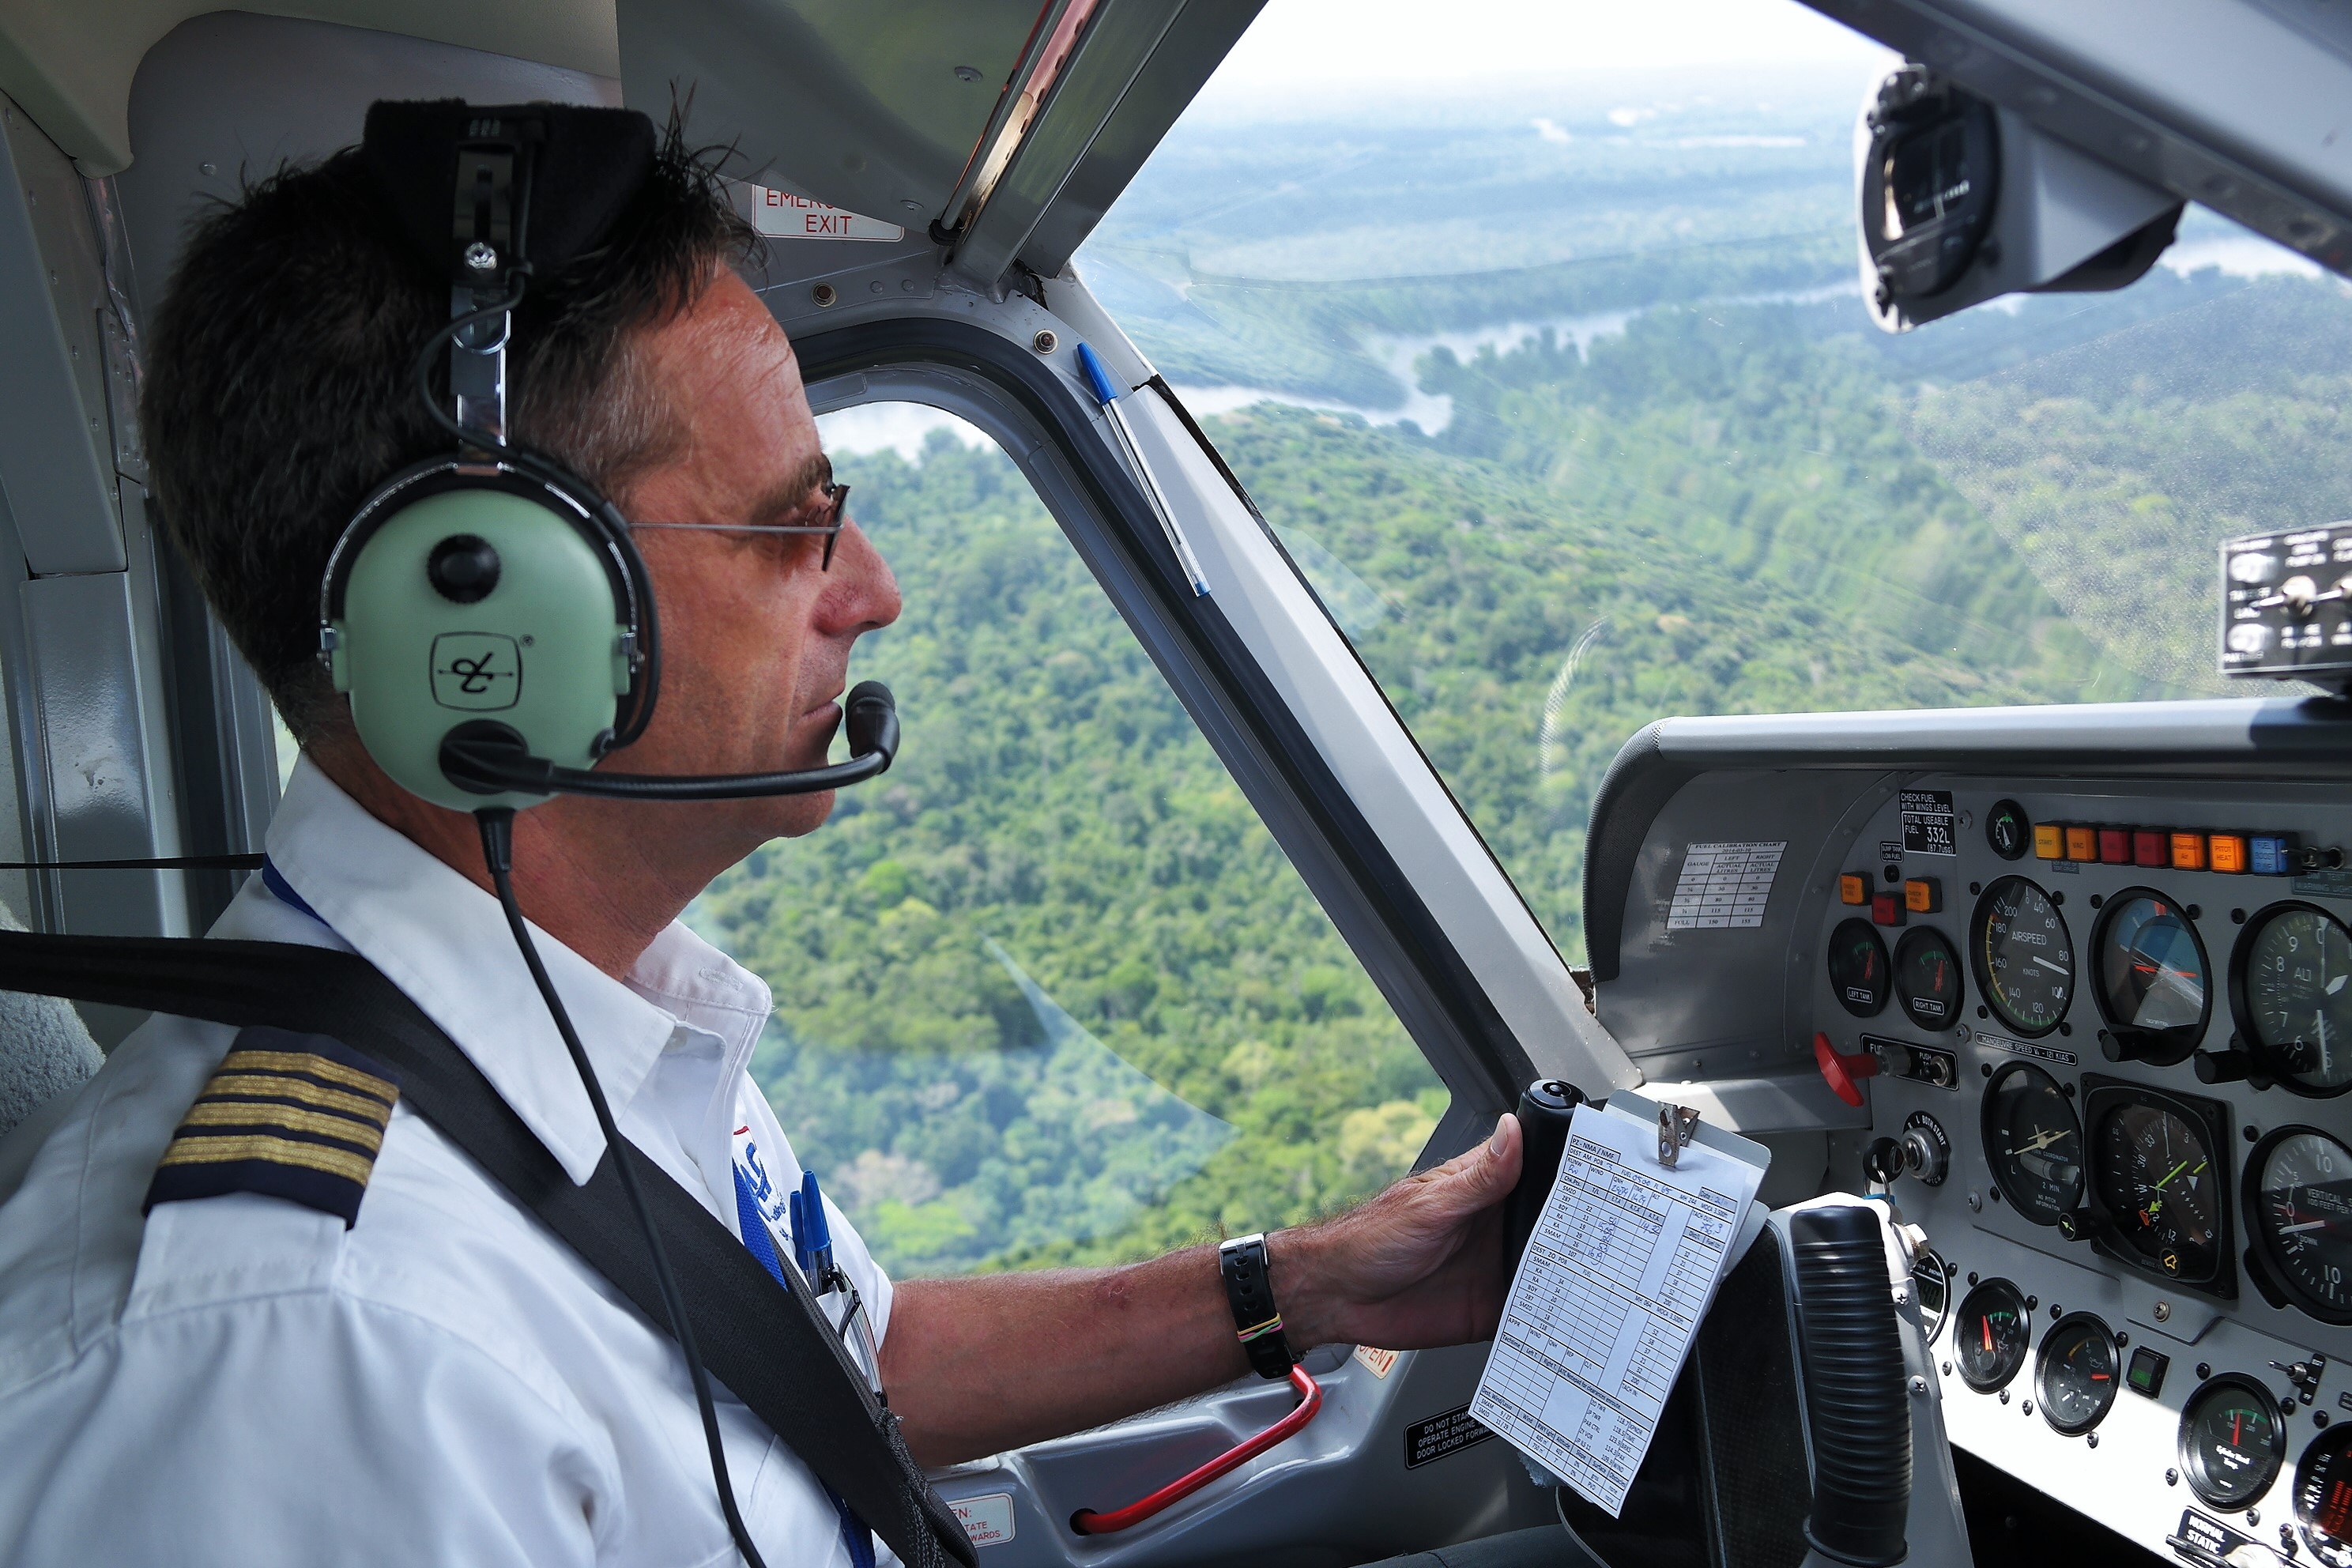
[[[882,773],[898,719],[880,682],[849,693],[851,759],[837,766],[593,771],[654,717],[654,588],[619,508],[506,440],[506,348],[529,280],[602,240],[644,183],[652,120],[560,103],[374,103],[362,158],[412,244],[449,277],[449,324],[419,353],[416,390],[454,447],[376,487],[327,559],[320,658],[369,757],[454,811],[550,795],[807,795]],[[442,346],[454,416],[433,390]]]

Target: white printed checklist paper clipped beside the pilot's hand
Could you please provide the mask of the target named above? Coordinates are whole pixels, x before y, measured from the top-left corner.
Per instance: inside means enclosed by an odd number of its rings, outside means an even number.
[[[1611,1519],[1642,1469],[1715,1286],[1759,1229],[1764,1152],[1700,1131],[1670,1171],[1656,1119],[1576,1107],[1470,1415]],[[1712,1147],[1710,1147],[1712,1145]],[[1755,1159],[1740,1157],[1755,1150]],[[1762,1215],[1762,1211],[1757,1211]]]

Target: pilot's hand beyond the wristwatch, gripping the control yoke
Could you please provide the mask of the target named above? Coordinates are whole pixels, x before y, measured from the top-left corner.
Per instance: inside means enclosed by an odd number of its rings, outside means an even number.
[[[1503,1199],[1519,1180],[1519,1119],[1435,1171],[1322,1225],[1268,1239],[1289,1342],[1423,1349],[1494,1335],[1503,1316]]]

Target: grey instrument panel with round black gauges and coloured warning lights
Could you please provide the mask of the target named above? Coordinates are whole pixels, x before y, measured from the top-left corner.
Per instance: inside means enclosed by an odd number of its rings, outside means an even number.
[[[1790,964],[1957,1298],[1952,1441],[2180,1561],[2352,1568],[2352,813],[1945,776],[1846,827]]]

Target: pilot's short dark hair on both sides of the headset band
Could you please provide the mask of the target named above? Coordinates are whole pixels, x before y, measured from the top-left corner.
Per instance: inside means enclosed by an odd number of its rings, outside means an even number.
[[[597,249],[532,282],[515,320],[510,435],[607,496],[682,433],[635,339],[757,237],[673,118]],[[318,665],[327,552],[376,484],[449,449],[414,381],[449,284],[346,148],[282,167],[188,233],[148,334],[139,402],[165,529],[296,741],[341,729]]]

